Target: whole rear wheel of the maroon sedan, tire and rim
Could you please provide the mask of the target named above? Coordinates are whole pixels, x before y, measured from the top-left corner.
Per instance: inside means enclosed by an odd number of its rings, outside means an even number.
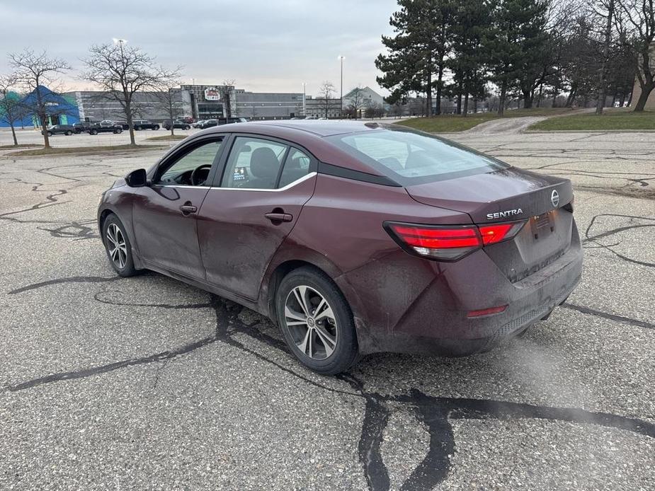
[[[319,270],[301,267],[280,283],[278,325],[295,357],[319,374],[348,370],[358,354],[353,313],[336,284]]]

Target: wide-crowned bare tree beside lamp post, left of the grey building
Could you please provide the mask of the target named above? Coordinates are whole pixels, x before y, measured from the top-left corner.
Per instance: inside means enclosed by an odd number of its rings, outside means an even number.
[[[132,121],[138,112],[135,94],[142,91],[166,91],[178,78],[181,67],[169,70],[135,46],[119,40],[113,45],[93,45],[91,56],[84,60],[86,71],[81,79],[96,83],[108,97],[120,104],[130,129],[130,144],[135,145]]]

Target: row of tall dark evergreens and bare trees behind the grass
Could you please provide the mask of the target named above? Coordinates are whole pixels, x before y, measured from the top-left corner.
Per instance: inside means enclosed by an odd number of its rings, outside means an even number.
[[[425,94],[426,113],[440,114],[442,97],[467,115],[496,93],[500,114],[509,100],[524,108],[543,98],[586,105],[608,94],[621,105],[635,75],[642,88],[634,110],[655,87],[651,46],[653,0],[398,0],[376,59],[377,81],[389,103]],[[433,96],[435,104],[433,105]],[[434,110],[433,110],[434,108]]]

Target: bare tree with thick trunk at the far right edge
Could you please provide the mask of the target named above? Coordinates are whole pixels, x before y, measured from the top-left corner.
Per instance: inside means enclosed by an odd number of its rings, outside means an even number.
[[[655,88],[655,0],[615,0],[617,23],[628,25],[632,37],[627,42],[637,52],[637,80],[642,89],[634,111],[643,111]]]

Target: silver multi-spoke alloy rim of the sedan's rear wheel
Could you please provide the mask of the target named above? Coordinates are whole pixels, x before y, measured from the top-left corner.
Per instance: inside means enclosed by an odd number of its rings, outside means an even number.
[[[298,350],[312,359],[331,356],[338,327],[331,306],[312,287],[293,288],[285,300],[285,324]]]

